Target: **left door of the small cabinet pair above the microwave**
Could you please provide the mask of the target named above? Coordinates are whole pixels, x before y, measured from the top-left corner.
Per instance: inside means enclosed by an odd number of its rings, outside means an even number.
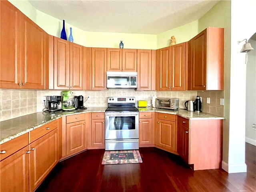
[[[122,49],[107,48],[107,71],[122,71]]]

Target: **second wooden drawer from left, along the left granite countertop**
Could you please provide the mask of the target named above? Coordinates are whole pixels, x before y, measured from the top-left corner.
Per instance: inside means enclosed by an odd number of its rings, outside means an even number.
[[[58,128],[58,120],[52,121],[48,124],[45,124],[35,130],[29,132],[29,143],[34,142],[45,134],[51,132],[52,130]]]

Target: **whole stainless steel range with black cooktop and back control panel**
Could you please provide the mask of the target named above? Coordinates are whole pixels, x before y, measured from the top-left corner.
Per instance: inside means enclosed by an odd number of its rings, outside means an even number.
[[[108,97],[106,150],[139,149],[139,110],[135,97]]]

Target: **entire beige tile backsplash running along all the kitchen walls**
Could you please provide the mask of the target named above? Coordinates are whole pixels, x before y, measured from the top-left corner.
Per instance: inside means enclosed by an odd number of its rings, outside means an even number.
[[[180,99],[180,108],[185,108],[186,100],[195,100],[196,95],[201,96],[202,111],[223,116],[224,106],[220,105],[220,98],[224,98],[224,91],[134,91],[134,90],[107,90],[107,91],[76,91],[74,95],[82,95],[88,100],[86,107],[107,106],[107,97],[110,96],[134,96],[136,100],[147,100],[151,103],[151,96],[171,97]],[[44,108],[42,97],[61,95],[61,90],[13,90],[0,89],[0,121],[11,118],[41,112]],[[210,98],[210,104],[206,104],[206,98]]]

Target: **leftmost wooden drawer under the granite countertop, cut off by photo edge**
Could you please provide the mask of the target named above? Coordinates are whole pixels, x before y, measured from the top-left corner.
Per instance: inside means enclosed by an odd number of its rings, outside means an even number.
[[[28,145],[28,133],[18,136],[8,142],[0,145],[0,151],[5,153],[0,153],[0,160],[14,154],[16,151],[24,148]]]

